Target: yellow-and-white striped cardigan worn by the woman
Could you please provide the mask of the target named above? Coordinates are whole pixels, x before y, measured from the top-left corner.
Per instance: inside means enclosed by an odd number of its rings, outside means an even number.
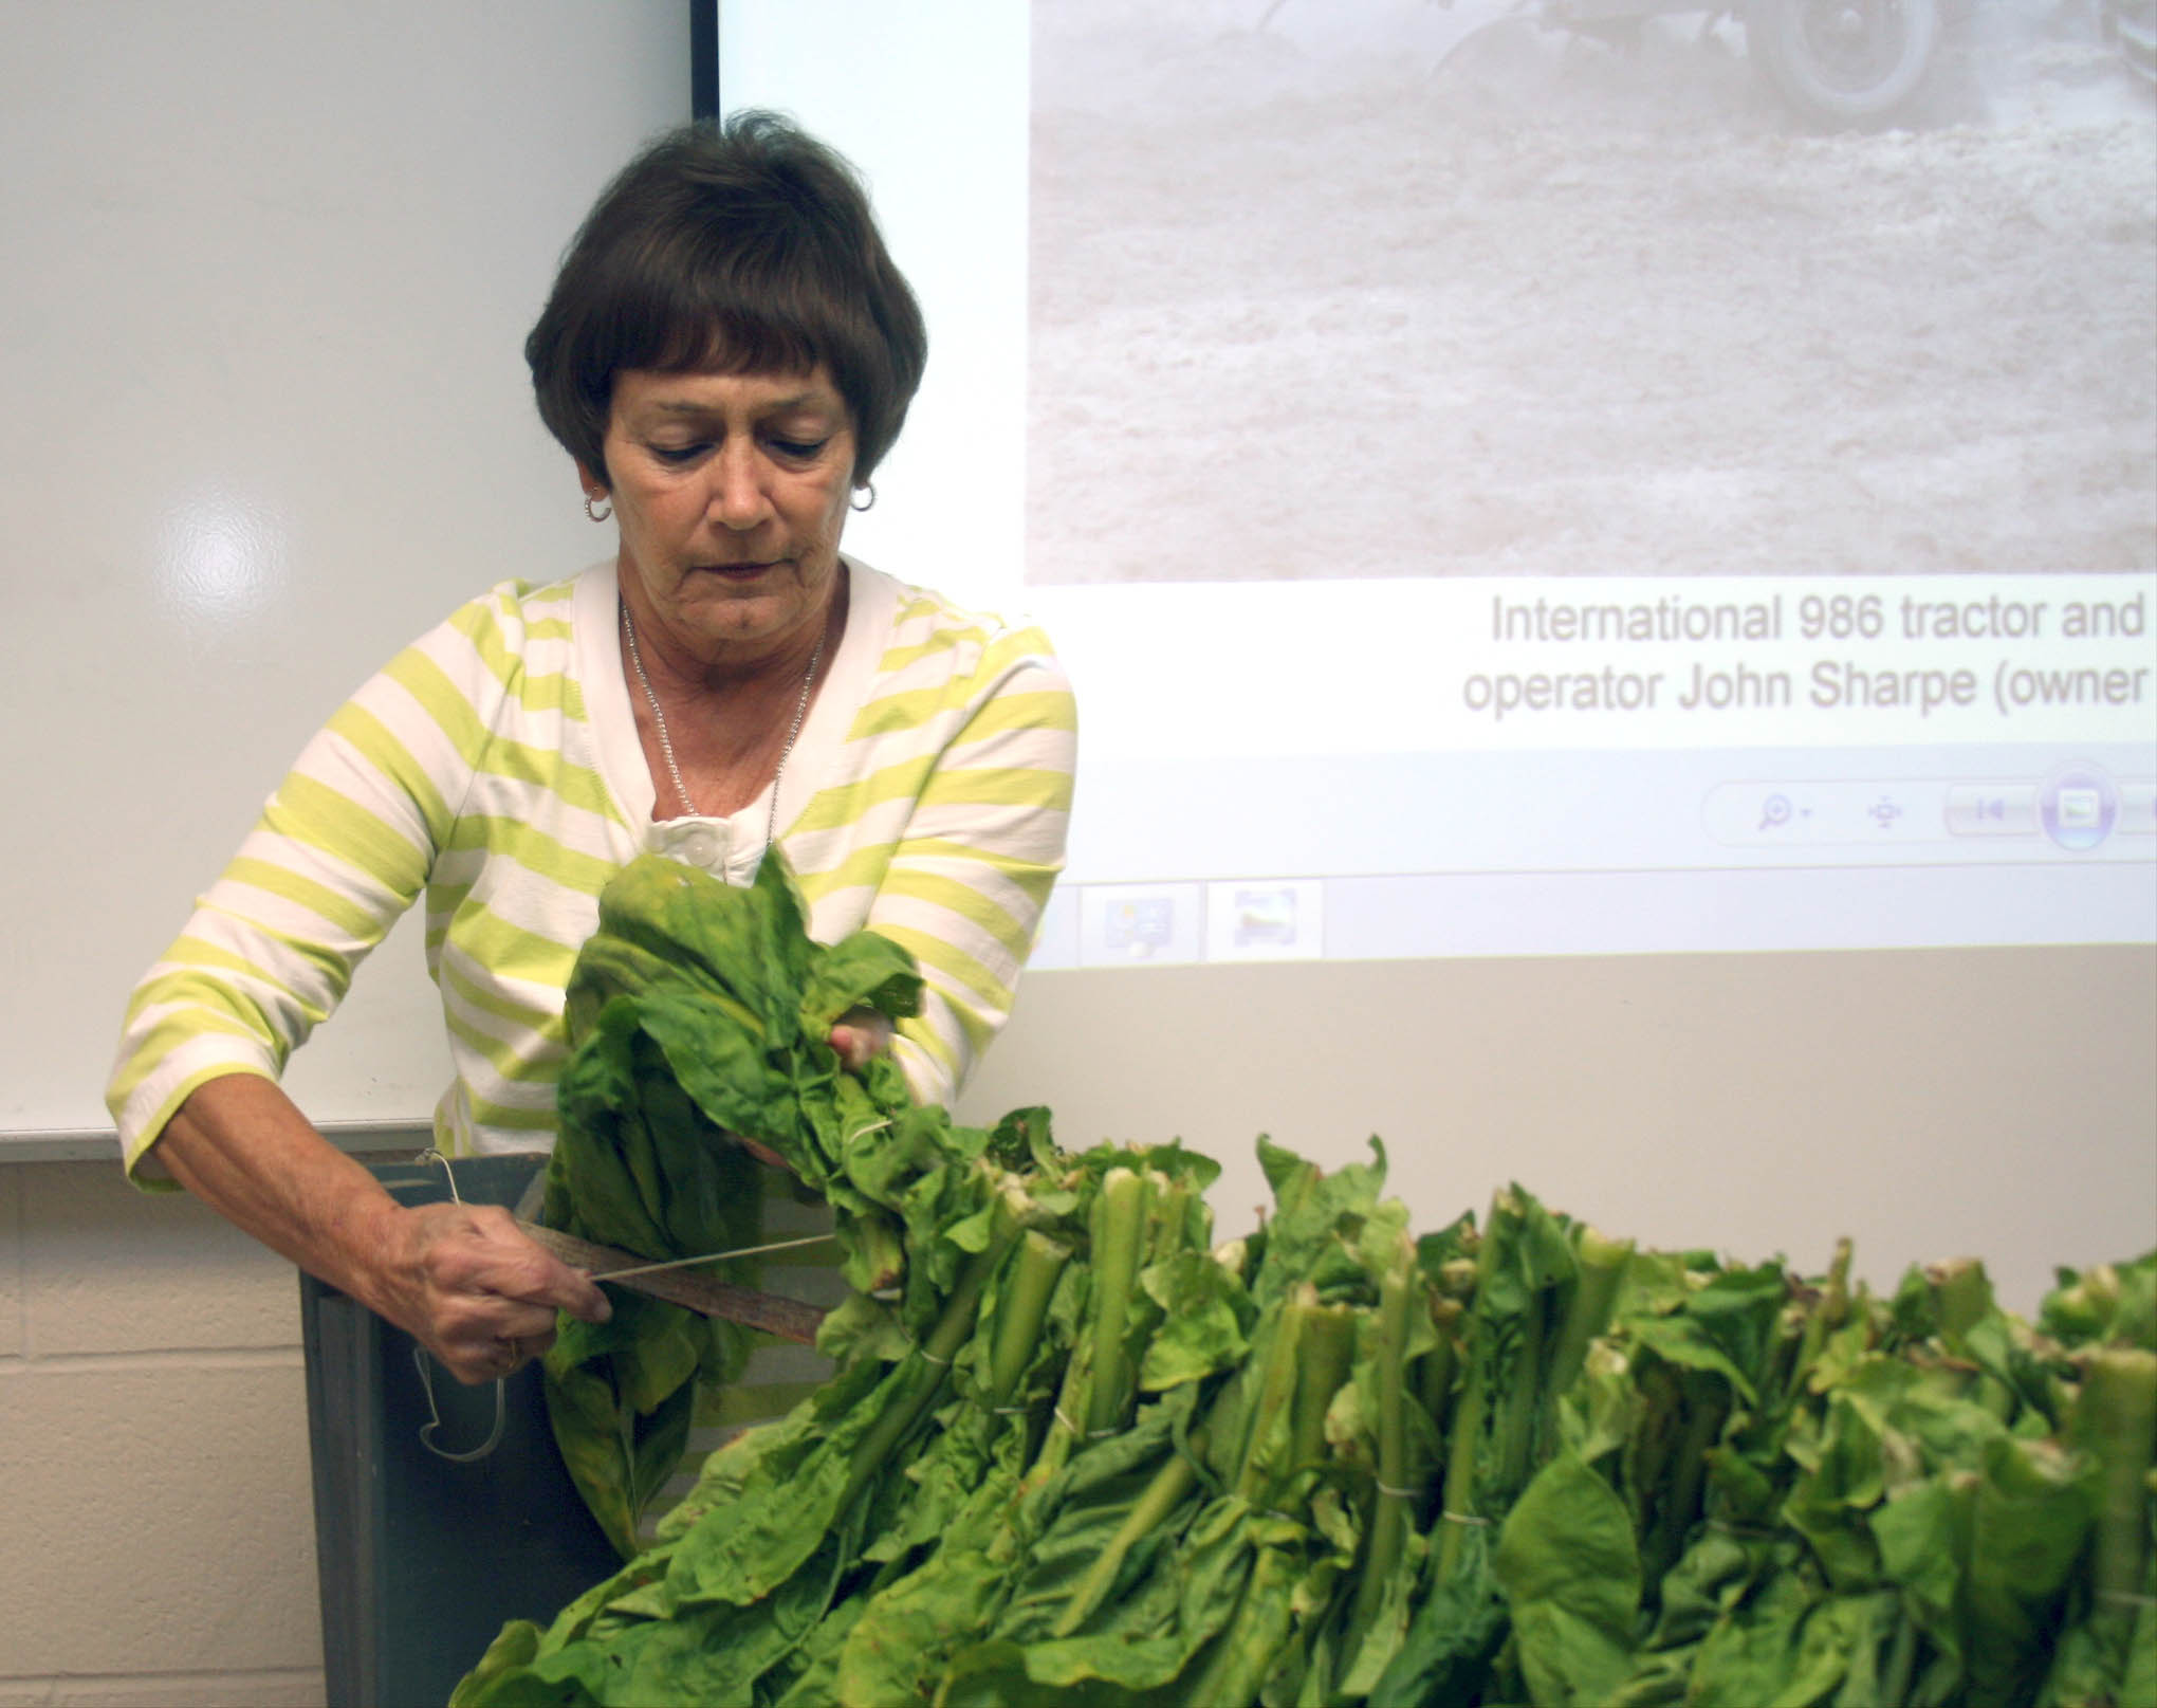
[[[917,1098],[949,1100],[1009,1016],[1063,863],[1072,694],[1038,630],[848,576],[779,843],[818,940],[869,925],[921,962],[928,1007],[895,1050]],[[563,988],[600,889],[647,850],[746,882],[770,815],[766,794],[729,819],[651,822],[615,636],[613,565],[503,582],[308,742],[134,992],[108,1089],[129,1171],[196,1085],[274,1078],[423,891],[455,1063],[436,1143],[552,1143]]]

